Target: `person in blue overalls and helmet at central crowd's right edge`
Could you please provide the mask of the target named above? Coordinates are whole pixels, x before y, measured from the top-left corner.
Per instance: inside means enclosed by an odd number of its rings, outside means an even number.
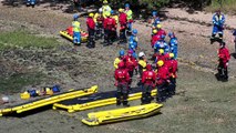
[[[168,33],[170,37],[170,52],[174,53],[174,59],[177,59],[177,38],[173,32]]]

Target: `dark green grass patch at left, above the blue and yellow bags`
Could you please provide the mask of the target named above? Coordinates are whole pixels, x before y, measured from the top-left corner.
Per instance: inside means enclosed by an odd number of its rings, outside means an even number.
[[[0,93],[17,93],[23,86],[37,85],[45,79],[42,73],[18,73],[9,78],[0,78]]]

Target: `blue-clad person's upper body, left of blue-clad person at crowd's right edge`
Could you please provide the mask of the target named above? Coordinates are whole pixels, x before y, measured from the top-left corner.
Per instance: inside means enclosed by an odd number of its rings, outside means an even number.
[[[154,53],[158,52],[160,49],[163,49],[165,53],[170,52],[170,47],[165,42],[165,35],[161,35],[161,40],[154,44]]]

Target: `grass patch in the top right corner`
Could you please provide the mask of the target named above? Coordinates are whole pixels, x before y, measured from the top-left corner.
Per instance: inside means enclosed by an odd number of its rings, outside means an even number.
[[[236,0],[212,0],[212,4],[205,8],[206,11],[215,11],[222,9],[222,11],[235,14],[236,13]]]

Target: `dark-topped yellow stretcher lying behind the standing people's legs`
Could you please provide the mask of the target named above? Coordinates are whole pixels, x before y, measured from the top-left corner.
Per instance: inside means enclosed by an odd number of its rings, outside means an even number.
[[[157,91],[156,89],[154,89],[152,91],[152,96],[156,95],[156,93]],[[72,113],[76,111],[83,111],[83,110],[111,105],[116,103],[115,94],[116,94],[115,91],[100,92],[90,96],[62,101],[59,103],[54,103],[53,110],[62,109]],[[141,98],[142,98],[142,89],[132,89],[132,92],[129,94],[127,100],[133,101],[133,100],[138,100]]]

